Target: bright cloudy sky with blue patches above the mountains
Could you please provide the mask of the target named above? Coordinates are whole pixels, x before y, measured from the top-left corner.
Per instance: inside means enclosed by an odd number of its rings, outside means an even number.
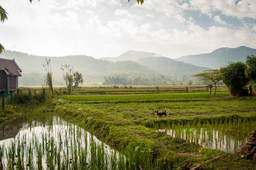
[[[5,49],[41,56],[166,57],[256,48],[256,0],[0,0]]]

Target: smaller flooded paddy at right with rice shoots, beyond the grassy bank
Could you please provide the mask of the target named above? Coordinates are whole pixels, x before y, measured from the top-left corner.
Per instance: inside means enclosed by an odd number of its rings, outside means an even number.
[[[176,124],[170,129],[158,131],[212,149],[234,152],[243,145],[255,127],[255,121],[237,120],[226,123]]]

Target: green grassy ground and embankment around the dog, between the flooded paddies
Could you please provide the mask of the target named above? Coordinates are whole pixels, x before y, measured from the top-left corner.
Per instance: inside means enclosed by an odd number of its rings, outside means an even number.
[[[172,138],[156,127],[173,122],[255,118],[254,98],[232,98],[227,92],[210,96],[206,92],[188,94],[138,95],[70,95],[60,96],[57,114],[69,121],[89,127],[101,140],[116,147],[130,145],[154,156],[166,169],[187,169],[221,155],[205,169],[254,169],[255,163],[234,154],[207,149],[198,153],[199,145]],[[156,120],[154,110],[166,108],[167,120]],[[155,128],[154,128],[155,127]],[[223,158],[223,159],[222,159]],[[221,166],[219,166],[221,165]]]

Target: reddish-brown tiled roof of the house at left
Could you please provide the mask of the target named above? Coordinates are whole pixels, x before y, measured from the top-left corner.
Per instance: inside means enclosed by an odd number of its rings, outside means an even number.
[[[18,66],[18,64],[15,62],[15,60],[9,60],[5,58],[0,58],[0,70],[7,70],[9,75],[16,75],[21,76],[22,70]]]

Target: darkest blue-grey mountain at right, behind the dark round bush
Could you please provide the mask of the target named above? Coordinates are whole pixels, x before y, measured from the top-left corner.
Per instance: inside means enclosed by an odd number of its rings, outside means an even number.
[[[245,62],[247,55],[256,54],[256,49],[241,46],[237,48],[218,48],[212,53],[187,55],[177,58],[177,61],[219,69],[228,62]]]

